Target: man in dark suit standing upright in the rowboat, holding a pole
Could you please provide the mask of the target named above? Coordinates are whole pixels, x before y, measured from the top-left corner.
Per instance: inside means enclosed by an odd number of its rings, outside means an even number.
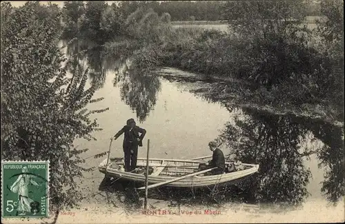
[[[143,146],[142,141],[146,134],[146,130],[135,125],[134,119],[128,119],[127,125],[115,134],[114,139],[116,140],[123,133],[125,134],[123,145],[125,154],[125,171],[130,172],[135,170],[135,167],[137,167],[138,145]],[[139,133],[141,134],[139,135]]]

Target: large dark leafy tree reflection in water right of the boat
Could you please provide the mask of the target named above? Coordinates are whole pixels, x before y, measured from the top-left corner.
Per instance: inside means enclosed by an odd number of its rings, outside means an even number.
[[[307,130],[289,116],[258,111],[251,111],[250,116],[244,120],[235,118],[236,125],[227,123],[219,139],[235,146],[240,161],[260,165],[257,178],[250,183],[257,201],[302,202],[308,194],[306,185],[311,172],[303,165],[299,136]]]

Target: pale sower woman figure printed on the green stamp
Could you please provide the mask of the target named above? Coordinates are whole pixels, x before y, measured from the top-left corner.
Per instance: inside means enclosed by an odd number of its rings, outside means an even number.
[[[32,176],[28,174],[28,167],[23,167],[21,170],[23,174],[18,176],[17,181],[14,181],[10,190],[14,193],[18,194],[18,212],[21,212],[19,215],[25,215],[26,212],[31,212],[30,204],[34,201],[29,198],[28,195],[28,185],[31,183],[32,185],[40,186],[34,180],[32,180]]]

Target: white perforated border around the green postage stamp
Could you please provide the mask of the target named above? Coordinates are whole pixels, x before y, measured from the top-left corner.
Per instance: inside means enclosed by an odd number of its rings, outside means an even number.
[[[46,187],[46,200],[47,200],[47,212],[46,216],[10,216],[10,217],[4,217],[3,216],[3,165],[6,163],[11,163],[11,164],[16,164],[16,163],[21,163],[21,164],[30,164],[30,163],[42,163],[47,165],[47,170],[46,170],[46,180],[47,180],[47,187]],[[1,218],[49,218],[49,188],[50,188],[50,161],[5,161],[1,160]]]

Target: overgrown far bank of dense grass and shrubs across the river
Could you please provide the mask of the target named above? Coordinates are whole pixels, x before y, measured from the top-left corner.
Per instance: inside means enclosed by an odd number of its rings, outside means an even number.
[[[223,79],[206,92],[219,101],[343,120],[342,83],[322,52],[293,42],[256,43],[215,30],[181,28],[159,47],[135,51],[133,58],[139,67],[167,66]]]

